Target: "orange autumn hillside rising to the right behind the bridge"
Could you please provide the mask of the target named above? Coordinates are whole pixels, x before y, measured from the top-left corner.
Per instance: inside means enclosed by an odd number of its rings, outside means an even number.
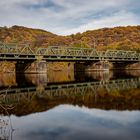
[[[83,45],[105,49],[140,49],[140,26],[104,28],[76,34],[74,40]]]

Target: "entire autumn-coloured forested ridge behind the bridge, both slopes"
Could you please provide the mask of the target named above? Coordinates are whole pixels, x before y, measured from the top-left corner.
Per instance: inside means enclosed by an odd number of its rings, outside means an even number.
[[[58,36],[56,34],[22,26],[0,28],[0,41],[30,43],[33,47],[64,45],[76,47],[96,47],[98,50],[124,49],[140,50],[140,26],[103,28]]]

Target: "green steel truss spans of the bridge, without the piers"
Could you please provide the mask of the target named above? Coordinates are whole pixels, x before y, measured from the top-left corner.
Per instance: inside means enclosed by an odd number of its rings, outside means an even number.
[[[0,42],[0,60],[45,60],[45,61],[110,61],[139,62],[140,53],[136,51],[107,50],[50,46],[33,48],[28,44]]]

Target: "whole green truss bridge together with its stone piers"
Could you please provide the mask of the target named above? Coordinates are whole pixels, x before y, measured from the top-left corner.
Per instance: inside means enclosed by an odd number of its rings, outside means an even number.
[[[0,62],[15,61],[15,71],[22,73],[45,73],[46,62],[68,61],[75,62],[74,69],[85,69],[78,65],[81,62],[95,67],[94,69],[109,69],[110,63],[116,67],[126,67],[128,64],[140,62],[140,53],[136,51],[106,50],[97,51],[93,48],[77,48],[68,46],[49,46],[47,48],[33,48],[28,44],[13,44],[0,42]],[[34,63],[34,67],[31,64]],[[89,64],[90,63],[90,64]],[[94,64],[93,64],[94,63]],[[114,64],[115,63],[115,64]],[[118,66],[121,63],[122,66]],[[112,65],[111,64],[111,65]],[[117,66],[116,66],[117,64]],[[125,65],[124,65],[125,64]],[[130,66],[129,66],[130,67]],[[9,69],[2,68],[1,69]],[[11,68],[13,69],[13,67]],[[138,68],[140,69],[139,65]],[[13,70],[12,70],[13,71]]]

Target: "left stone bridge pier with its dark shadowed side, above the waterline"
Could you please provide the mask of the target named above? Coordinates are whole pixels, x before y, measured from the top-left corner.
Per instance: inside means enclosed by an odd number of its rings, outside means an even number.
[[[18,61],[16,63],[16,72],[17,73],[46,73],[47,62],[42,60],[37,60],[34,62]]]

